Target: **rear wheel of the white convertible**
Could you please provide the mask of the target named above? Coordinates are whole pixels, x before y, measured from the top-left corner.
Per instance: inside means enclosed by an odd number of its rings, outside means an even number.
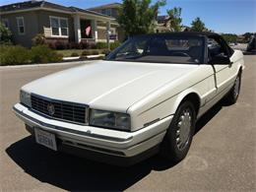
[[[224,97],[224,102],[226,104],[234,104],[240,94],[240,88],[241,88],[241,73],[237,75],[234,85],[229,91],[229,93]]]

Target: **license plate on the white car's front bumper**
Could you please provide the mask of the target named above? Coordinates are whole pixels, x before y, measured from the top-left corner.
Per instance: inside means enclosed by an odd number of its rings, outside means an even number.
[[[38,128],[34,128],[35,141],[37,144],[45,146],[51,150],[57,151],[55,135]]]

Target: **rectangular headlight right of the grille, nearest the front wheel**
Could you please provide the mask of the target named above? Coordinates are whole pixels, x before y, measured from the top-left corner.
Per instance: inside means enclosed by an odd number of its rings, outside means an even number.
[[[130,130],[130,115],[120,112],[91,109],[90,125],[120,130]]]

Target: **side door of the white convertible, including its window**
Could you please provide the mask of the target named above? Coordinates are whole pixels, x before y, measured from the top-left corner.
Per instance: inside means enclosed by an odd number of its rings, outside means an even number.
[[[220,36],[209,37],[208,41],[208,57],[209,61],[216,56],[224,56],[230,59],[233,50],[229,48],[224,39]],[[236,63],[214,63],[212,64],[215,71],[216,95],[226,94],[234,84],[237,73]]]

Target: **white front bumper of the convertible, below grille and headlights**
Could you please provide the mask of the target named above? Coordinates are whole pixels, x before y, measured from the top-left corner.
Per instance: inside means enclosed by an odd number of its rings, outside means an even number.
[[[66,146],[124,158],[137,156],[158,146],[172,119],[168,116],[141,130],[123,132],[50,119],[21,103],[15,104],[13,110],[27,125],[55,134]]]

